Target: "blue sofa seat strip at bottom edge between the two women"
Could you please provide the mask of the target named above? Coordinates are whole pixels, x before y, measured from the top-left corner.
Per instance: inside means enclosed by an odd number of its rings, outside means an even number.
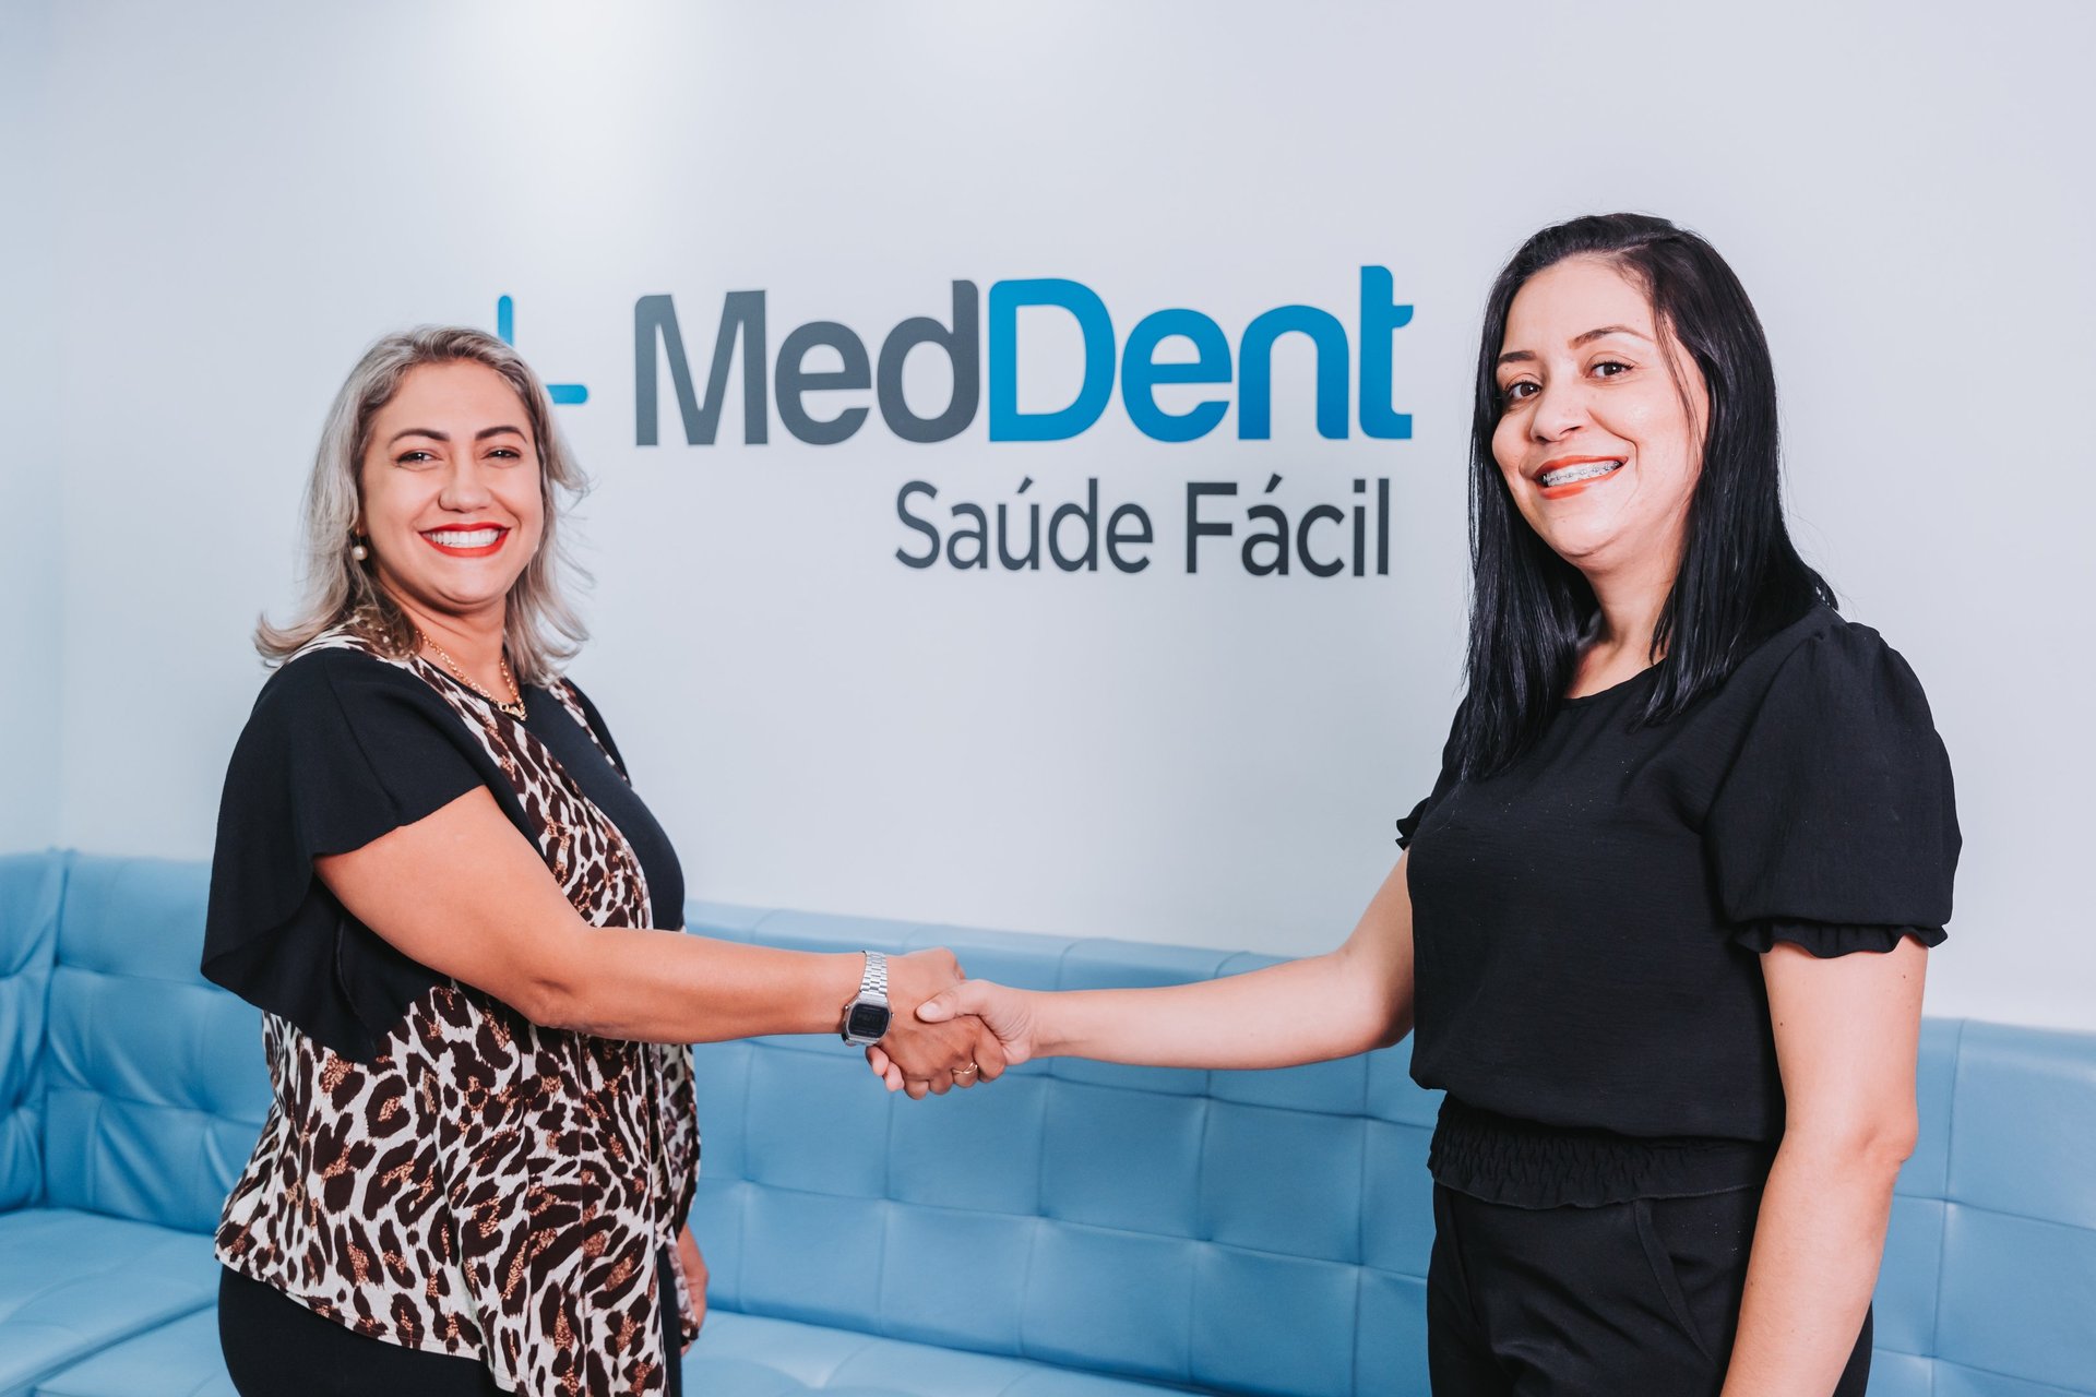
[[[876,1338],[796,1320],[708,1311],[683,1355],[683,1391],[706,1397],[1157,1397],[1184,1389],[1019,1357]]]

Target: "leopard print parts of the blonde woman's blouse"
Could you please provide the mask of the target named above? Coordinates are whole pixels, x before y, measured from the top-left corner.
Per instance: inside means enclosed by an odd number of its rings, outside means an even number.
[[[411,670],[516,788],[539,852],[591,926],[652,926],[625,836],[514,718],[342,626],[316,649]],[[549,691],[595,737],[564,681]],[[599,739],[602,746],[602,739]],[[478,1357],[530,1397],[662,1393],[660,1305],[696,1334],[681,1267],[656,1294],[698,1177],[685,1047],[545,1028],[440,980],[369,1062],[266,1012],[272,1102],[216,1234],[218,1259],[358,1334]]]

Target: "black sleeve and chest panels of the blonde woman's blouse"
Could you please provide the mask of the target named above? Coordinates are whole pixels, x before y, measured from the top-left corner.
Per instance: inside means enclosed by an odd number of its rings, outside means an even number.
[[[524,727],[627,836],[654,924],[681,928],[677,855],[623,762],[614,767],[618,748],[595,706],[568,689],[602,750],[539,685],[524,687]],[[413,672],[354,649],[316,649],[279,668],[226,767],[203,974],[337,1054],[369,1060],[407,1005],[444,976],[352,917],[314,878],[312,861],[363,848],[476,785],[532,838],[516,785]]]

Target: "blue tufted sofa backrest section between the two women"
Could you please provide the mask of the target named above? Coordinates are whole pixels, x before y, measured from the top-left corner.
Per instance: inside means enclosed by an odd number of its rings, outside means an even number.
[[[694,905],[811,951],[949,945],[1035,989],[1272,963]],[[1423,1393],[1436,1093],[1396,1047],[1279,1072],[1033,1062],[887,1095],[836,1039],[694,1051],[694,1232],[727,1309],[1232,1393]]]

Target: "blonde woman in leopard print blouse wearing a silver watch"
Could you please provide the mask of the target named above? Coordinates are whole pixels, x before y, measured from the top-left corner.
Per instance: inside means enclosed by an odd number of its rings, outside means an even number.
[[[203,949],[264,1010],[272,1087],[216,1236],[243,1397],[677,1393],[690,1043],[840,1030],[918,1093],[1002,1070],[973,1020],[910,1016],[947,951],[681,934],[677,855],[560,672],[581,484],[537,375],[474,329],[379,339],[329,411]]]

